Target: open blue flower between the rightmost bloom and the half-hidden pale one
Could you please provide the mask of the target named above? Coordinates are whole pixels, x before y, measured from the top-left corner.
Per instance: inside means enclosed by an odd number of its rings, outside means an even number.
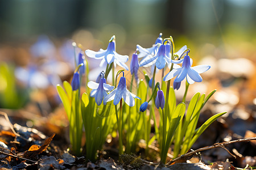
[[[156,68],[163,69],[164,66],[166,66],[166,63],[169,65],[171,63],[181,63],[183,62],[183,59],[180,60],[172,60],[170,57],[166,55],[166,48],[167,45],[160,45],[158,53],[151,57],[148,56],[142,60],[142,62],[139,64],[139,66],[151,66],[153,63],[155,63]]]

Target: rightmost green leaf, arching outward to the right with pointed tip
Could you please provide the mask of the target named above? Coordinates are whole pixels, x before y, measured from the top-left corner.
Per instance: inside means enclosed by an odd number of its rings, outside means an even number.
[[[226,112],[218,113],[210,117],[207,121],[204,122],[202,126],[197,130],[196,134],[193,136],[192,140],[189,142],[189,148],[192,147],[192,145],[196,142],[197,138],[204,132],[205,129],[208,128],[210,124],[212,124],[213,121],[215,121],[217,118],[221,117]]]

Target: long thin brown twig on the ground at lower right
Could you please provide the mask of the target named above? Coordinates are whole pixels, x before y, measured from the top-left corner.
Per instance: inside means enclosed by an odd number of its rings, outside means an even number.
[[[214,143],[214,144],[211,145],[211,146],[202,147],[202,148],[199,148],[199,149],[197,149],[197,150],[195,150],[195,151],[188,152],[187,154],[181,155],[181,156],[179,156],[178,158],[175,158],[175,159],[171,160],[170,162],[168,162],[168,163],[166,164],[166,166],[167,166],[167,165],[170,165],[170,164],[172,164],[172,163],[174,163],[174,162],[176,162],[177,160],[184,159],[184,158],[186,158],[186,157],[188,157],[188,156],[194,155],[194,154],[196,154],[197,152],[201,152],[201,151],[205,151],[205,150],[210,150],[210,149],[216,148],[216,147],[225,148],[225,147],[224,147],[225,145],[229,145],[229,144],[231,144],[231,143],[248,142],[248,141],[252,141],[252,140],[256,140],[256,137],[245,138],[245,139],[237,139],[237,140],[229,141],[229,142]],[[225,150],[226,150],[226,148],[225,148]],[[228,151],[228,152],[229,152],[229,151]],[[232,156],[234,156],[234,155],[231,154],[230,152],[229,152],[229,154],[232,155]]]

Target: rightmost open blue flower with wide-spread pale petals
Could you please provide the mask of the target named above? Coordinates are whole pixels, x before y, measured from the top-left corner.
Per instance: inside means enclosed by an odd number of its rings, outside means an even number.
[[[187,55],[184,56],[184,61],[182,66],[179,69],[174,69],[170,71],[170,73],[164,76],[163,80],[168,81],[177,75],[176,78],[174,79],[175,83],[181,82],[184,78],[187,78],[187,82],[189,84],[193,84],[195,82],[201,82],[203,79],[200,76],[200,74],[204,73],[209,69],[210,69],[210,66],[208,65],[199,65],[199,66],[191,67],[191,59],[187,53]]]

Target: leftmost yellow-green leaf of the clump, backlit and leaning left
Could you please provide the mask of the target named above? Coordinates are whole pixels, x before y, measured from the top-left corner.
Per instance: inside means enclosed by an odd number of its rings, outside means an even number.
[[[62,101],[65,111],[67,113],[68,116],[68,120],[70,121],[70,114],[71,114],[71,101],[68,99],[67,94],[65,93],[64,89],[60,86],[60,84],[57,84],[56,86],[57,88],[57,92],[60,96],[60,100]]]

